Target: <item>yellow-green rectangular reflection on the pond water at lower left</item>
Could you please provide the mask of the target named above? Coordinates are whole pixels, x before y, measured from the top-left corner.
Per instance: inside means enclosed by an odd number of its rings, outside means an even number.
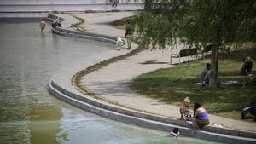
[[[39,97],[43,96],[44,95],[40,95]],[[55,106],[45,107],[44,104],[38,105],[38,103],[34,102],[32,102],[29,107],[27,117],[31,122],[29,123],[31,143],[58,143],[55,135],[57,132],[61,131],[61,108]]]

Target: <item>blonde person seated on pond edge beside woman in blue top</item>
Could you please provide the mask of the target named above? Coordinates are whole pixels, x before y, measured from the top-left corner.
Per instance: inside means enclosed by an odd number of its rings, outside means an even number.
[[[183,101],[183,105],[179,109],[181,120],[183,121],[191,121],[192,114],[191,111],[189,110],[189,103],[190,99],[189,97],[186,97]]]

